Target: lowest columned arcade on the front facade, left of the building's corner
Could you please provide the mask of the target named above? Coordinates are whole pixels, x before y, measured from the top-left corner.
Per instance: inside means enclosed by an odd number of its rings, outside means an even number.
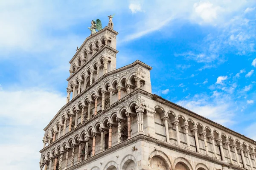
[[[131,127],[138,132],[143,131],[141,128],[134,127],[141,121],[141,119],[136,119],[137,114],[144,112],[143,106],[131,102],[128,108],[122,108],[119,113],[111,113],[102,121],[87,125],[81,133],[77,133],[74,137],[56,144],[47,154],[42,154],[42,165],[44,167],[55,167],[56,165],[57,167],[59,164],[58,166],[63,165],[65,168],[71,167],[113,145],[130,139]]]

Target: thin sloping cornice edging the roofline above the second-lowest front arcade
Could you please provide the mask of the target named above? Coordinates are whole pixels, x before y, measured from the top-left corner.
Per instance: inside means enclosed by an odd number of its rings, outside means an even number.
[[[149,65],[146,65],[145,63],[141,62],[140,60],[136,60],[135,62],[133,62],[130,65],[126,65],[124,67],[118,68],[116,70],[113,70],[111,72],[108,72],[106,74],[104,74],[102,77],[100,77],[99,79],[97,79],[92,85],[90,85],[89,87],[87,87],[84,91],[82,91],[79,95],[77,95],[76,97],[74,97],[74,99],[72,99],[70,102],[68,102],[66,105],[64,105],[59,111],[58,113],[53,117],[53,119],[49,122],[49,124],[44,128],[44,130],[47,130],[47,128],[52,124],[52,122],[57,119],[58,115],[61,113],[61,111],[63,111],[65,108],[67,108],[69,105],[72,105],[73,102],[76,102],[76,99],[78,99],[80,96],[82,96],[83,94],[85,94],[87,91],[89,91],[91,88],[93,88],[95,85],[97,85],[99,82],[101,82],[103,79],[105,79],[108,76],[111,76],[113,74],[116,74],[120,71],[124,71],[128,68],[132,68],[136,65],[141,65],[142,67],[148,69],[149,71],[152,69],[152,67],[150,67]],[[151,94],[152,95],[152,94]]]

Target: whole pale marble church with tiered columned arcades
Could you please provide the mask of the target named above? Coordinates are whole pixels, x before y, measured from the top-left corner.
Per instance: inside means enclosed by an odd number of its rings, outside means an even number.
[[[253,170],[256,142],[151,93],[150,66],[116,69],[108,26],[70,60],[67,104],[44,128],[40,170]]]

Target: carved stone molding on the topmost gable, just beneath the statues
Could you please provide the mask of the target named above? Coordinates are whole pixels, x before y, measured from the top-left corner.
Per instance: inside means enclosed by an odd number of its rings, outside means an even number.
[[[110,31],[110,32],[113,33],[114,35],[117,35],[117,34],[118,34],[118,32],[116,32],[116,31],[114,31],[113,29],[108,28],[108,27],[106,26],[105,28],[103,28],[102,30],[96,32],[95,34],[90,35],[89,37],[87,37],[87,38],[84,40],[83,44],[80,46],[79,50],[76,51],[76,54],[72,57],[72,59],[70,60],[69,63],[71,64],[71,63],[74,61],[74,59],[78,56],[78,54],[79,54],[81,51],[84,50],[84,46],[86,46],[86,43],[89,42],[89,40],[92,40],[93,38],[98,37],[100,34],[102,34],[102,33],[103,33],[104,31],[106,31],[106,30]],[[111,33],[109,33],[108,31],[106,31],[106,34],[110,35]],[[105,36],[105,34],[104,34],[102,37],[104,37],[104,36]],[[111,35],[110,35],[110,36],[111,36]],[[102,38],[102,37],[101,37],[101,38]],[[111,37],[113,37],[113,35],[112,35]],[[90,44],[90,42],[89,42],[89,44]]]

